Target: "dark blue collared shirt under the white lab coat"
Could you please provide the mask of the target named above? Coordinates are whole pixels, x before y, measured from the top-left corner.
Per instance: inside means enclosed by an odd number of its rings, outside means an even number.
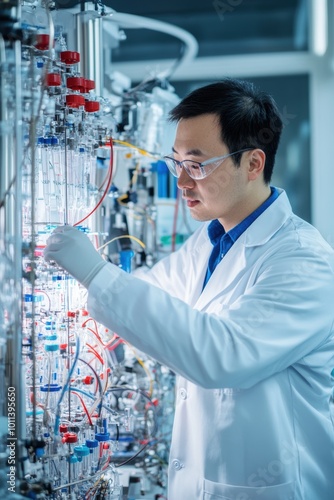
[[[232,245],[237,241],[239,236],[242,235],[244,231],[261,215],[279,196],[278,189],[271,187],[271,195],[269,198],[262,203],[254,212],[249,214],[246,219],[239,222],[239,224],[227,233],[224,227],[221,225],[218,219],[210,222],[208,226],[208,235],[210,241],[213,245],[213,249],[209,258],[208,268],[206,271],[206,276],[203,284],[203,289],[209,281],[213,271],[216,269],[219,262],[222,260],[224,255],[227,254]]]

